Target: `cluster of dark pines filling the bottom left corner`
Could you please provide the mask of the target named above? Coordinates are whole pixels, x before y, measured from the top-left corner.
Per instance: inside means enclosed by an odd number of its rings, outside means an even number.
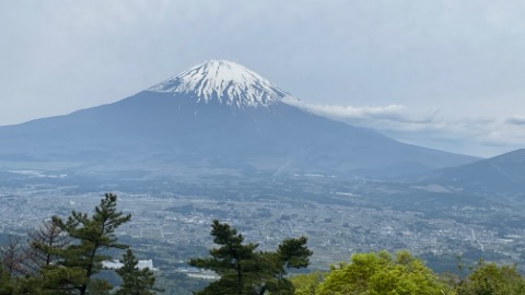
[[[126,249],[115,231],[131,216],[117,211],[117,196],[106,193],[90,215],[73,211],[54,216],[23,244],[12,239],[1,248],[0,294],[112,294],[114,286],[97,276],[113,249]],[[116,272],[122,284],[116,294],[155,294],[153,273],[139,270],[133,252],[124,255]]]

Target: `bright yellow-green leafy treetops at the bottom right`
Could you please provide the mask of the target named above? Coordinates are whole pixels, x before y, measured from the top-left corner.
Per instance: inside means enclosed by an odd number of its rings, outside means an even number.
[[[459,268],[463,268],[459,264]],[[525,280],[514,266],[499,267],[480,260],[466,278],[438,275],[407,251],[355,253],[350,263],[328,272],[291,279],[296,295],[520,295]]]

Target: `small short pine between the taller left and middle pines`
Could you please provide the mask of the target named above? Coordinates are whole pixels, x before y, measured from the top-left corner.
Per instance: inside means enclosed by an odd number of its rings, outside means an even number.
[[[122,267],[117,269],[117,273],[122,278],[120,288],[116,295],[153,295],[156,294],[155,276],[149,268],[140,270],[139,261],[133,251],[128,249],[120,259]]]

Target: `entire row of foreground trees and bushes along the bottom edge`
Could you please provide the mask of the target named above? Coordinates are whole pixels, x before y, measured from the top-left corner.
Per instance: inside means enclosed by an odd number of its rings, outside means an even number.
[[[0,246],[0,295],[168,293],[156,282],[154,270],[139,268],[133,250],[119,243],[117,229],[130,220],[117,209],[117,196],[106,193],[92,212],[51,216],[27,238],[10,238]],[[465,266],[458,259],[456,273],[435,273],[409,251],[378,251],[354,253],[327,271],[311,271],[314,253],[305,236],[287,238],[268,251],[218,220],[210,235],[215,247],[187,263],[212,271],[218,279],[194,294],[525,294],[525,280],[515,266],[483,260]],[[104,267],[115,259],[119,268]],[[302,273],[291,274],[293,269]],[[108,272],[118,280],[107,279]]]

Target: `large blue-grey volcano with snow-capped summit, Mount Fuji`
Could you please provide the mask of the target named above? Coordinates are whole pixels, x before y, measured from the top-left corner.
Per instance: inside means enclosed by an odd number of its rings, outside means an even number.
[[[113,104],[0,127],[0,167],[401,175],[476,161],[311,114],[298,101],[241,64],[212,60]]]

